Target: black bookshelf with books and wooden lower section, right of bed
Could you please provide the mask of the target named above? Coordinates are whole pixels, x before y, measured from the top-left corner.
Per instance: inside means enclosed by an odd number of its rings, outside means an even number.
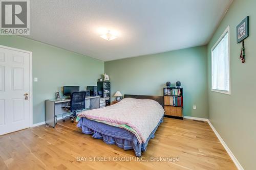
[[[164,116],[183,119],[183,88],[163,88]]]

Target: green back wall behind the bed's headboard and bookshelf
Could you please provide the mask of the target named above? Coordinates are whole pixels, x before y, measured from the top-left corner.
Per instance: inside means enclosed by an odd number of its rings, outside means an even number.
[[[208,118],[206,54],[207,47],[198,46],[105,62],[112,100],[117,90],[122,94],[163,95],[167,81],[172,84],[181,81],[184,115]]]

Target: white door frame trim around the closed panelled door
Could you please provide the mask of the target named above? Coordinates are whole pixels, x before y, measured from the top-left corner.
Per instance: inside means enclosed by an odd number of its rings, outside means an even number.
[[[29,83],[29,94],[30,94],[30,98],[29,98],[29,104],[30,104],[30,108],[29,108],[29,114],[30,114],[30,128],[33,127],[33,76],[32,76],[32,52],[30,51],[26,51],[26,50],[20,50],[18,48],[13,48],[13,47],[9,47],[9,46],[4,46],[4,45],[0,45],[1,48],[6,48],[7,50],[13,50],[13,51],[17,51],[17,52],[23,52],[23,53],[27,53],[29,54],[29,79],[30,79],[30,83]]]

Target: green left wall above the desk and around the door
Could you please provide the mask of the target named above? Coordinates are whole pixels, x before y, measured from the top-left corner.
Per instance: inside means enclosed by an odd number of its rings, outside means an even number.
[[[19,36],[0,36],[0,44],[33,53],[33,124],[45,121],[45,100],[55,98],[63,85],[80,90],[97,85],[104,62]],[[62,92],[61,92],[62,94]]]

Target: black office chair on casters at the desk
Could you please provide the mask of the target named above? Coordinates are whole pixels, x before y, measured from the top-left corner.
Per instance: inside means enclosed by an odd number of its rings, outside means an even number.
[[[71,119],[71,122],[73,123],[75,118],[77,117],[76,112],[86,108],[85,100],[86,100],[85,91],[73,92],[71,94],[71,101],[70,101],[71,114],[63,118],[63,122],[65,122],[65,119],[69,117]]]

